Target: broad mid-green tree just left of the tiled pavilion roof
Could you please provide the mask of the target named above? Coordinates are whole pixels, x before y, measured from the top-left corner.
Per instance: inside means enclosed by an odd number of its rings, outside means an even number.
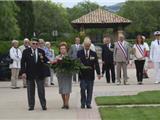
[[[71,29],[68,15],[61,4],[51,1],[34,1],[35,32],[37,37],[48,36],[52,39],[52,31],[57,30],[58,35]]]

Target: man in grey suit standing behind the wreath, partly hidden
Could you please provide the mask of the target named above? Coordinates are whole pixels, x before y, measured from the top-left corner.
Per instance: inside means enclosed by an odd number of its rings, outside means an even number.
[[[79,50],[83,49],[82,45],[80,44],[80,38],[79,37],[76,37],[75,38],[75,44],[73,44],[71,46],[71,48],[69,49],[69,56],[71,56],[71,58],[73,59],[77,59],[77,52]],[[73,74],[73,81],[76,82],[76,74]],[[79,80],[78,80],[79,81]]]

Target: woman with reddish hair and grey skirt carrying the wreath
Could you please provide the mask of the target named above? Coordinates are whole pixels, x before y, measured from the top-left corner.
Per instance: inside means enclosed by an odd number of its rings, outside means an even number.
[[[60,55],[56,57],[55,62],[61,62],[63,58],[68,56],[68,47],[66,42],[61,42],[59,45]],[[65,67],[65,66],[64,66]],[[59,85],[59,93],[62,96],[63,106],[62,109],[69,109],[69,97],[72,91],[72,74],[66,72],[56,72],[58,85]]]

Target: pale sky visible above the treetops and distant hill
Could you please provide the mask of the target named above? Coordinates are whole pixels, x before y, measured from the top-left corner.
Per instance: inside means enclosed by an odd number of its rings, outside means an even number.
[[[85,0],[52,0],[52,1],[56,2],[56,3],[62,3],[64,7],[72,8],[77,3],[83,2]],[[116,3],[125,2],[126,0],[89,0],[89,1],[96,2],[102,6],[103,5],[110,6],[110,5],[114,5]]]

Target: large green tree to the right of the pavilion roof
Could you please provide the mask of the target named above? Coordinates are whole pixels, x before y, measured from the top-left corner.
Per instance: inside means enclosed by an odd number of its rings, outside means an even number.
[[[132,20],[132,24],[126,29],[130,37],[135,37],[137,34],[150,36],[159,28],[159,3],[159,1],[127,1],[124,4],[119,14]]]

